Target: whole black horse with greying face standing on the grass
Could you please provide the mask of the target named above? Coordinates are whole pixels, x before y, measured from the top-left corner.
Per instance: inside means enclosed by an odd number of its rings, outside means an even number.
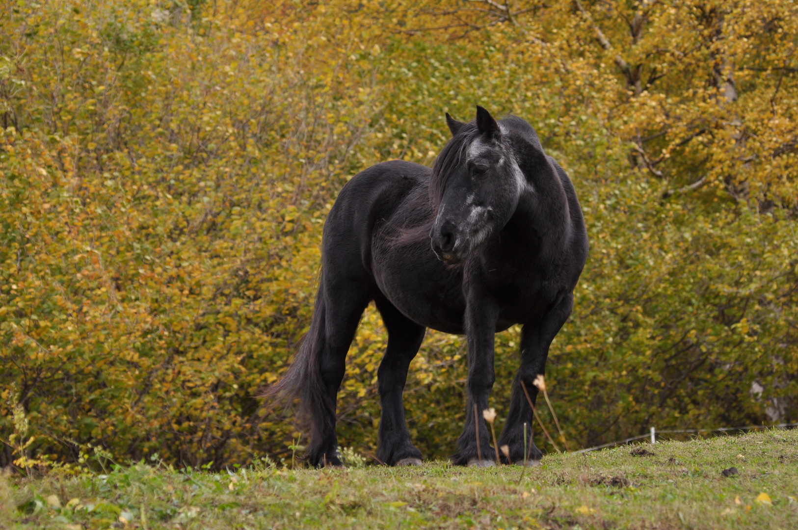
[[[523,459],[523,424],[549,345],[571,314],[587,259],[587,230],[571,180],[543,152],[519,117],[496,122],[446,114],[452,140],[432,169],[402,160],[358,173],[341,190],[322,235],[322,272],[313,320],[294,363],[267,395],[296,396],[310,419],[306,457],[342,465],[336,401],[346,353],[361,314],[377,305],[388,346],[377,371],[382,416],[377,459],[421,464],[410,441],[402,391],[425,329],[468,338],[466,421],[456,464],[479,461],[474,405],[480,411],[481,461],[495,457],[481,411],[493,387],[494,334],[519,323],[521,366],[499,441]],[[534,445],[531,458],[542,457]]]

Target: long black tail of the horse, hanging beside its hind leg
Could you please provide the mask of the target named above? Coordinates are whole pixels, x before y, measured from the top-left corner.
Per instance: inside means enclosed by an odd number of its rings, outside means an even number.
[[[305,457],[311,461],[321,457],[326,449],[322,447],[323,435],[327,429],[334,429],[335,404],[327,392],[322,378],[322,354],[326,348],[326,313],[324,297],[324,275],[319,281],[313,319],[302,345],[299,346],[294,362],[286,374],[275,385],[263,392],[263,397],[271,401],[290,403],[299,398],[298,417],[302,423],[310,423],[310,442]],[[333,448],[334,449],[334,448]],[[315,462],[314,462],[315,463]]]

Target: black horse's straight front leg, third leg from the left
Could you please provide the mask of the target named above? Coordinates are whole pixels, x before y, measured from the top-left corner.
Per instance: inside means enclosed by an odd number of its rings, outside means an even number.
[[[491,300],[472,297],[465,310],[465,332],[468,338],[468,383],[465,405],[465,426],[457,447],[460,452],[452,457],[459,465],[493,465],[495,452],[490,445],[488,425],[482,411],[488,408],[488,396],[496,380],[493,370],[493,341],[499,309]],[[479,444],[477,444],[477,434]],[[481,459],[478,456],[479,445]]]

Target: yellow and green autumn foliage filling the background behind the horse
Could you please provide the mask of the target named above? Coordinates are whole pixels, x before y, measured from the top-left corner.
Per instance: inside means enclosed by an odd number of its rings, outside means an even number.
[[[301,425],[255,396],[310,323],[326,212],[476,103],[534,125],[585,212],[547,367],[571,445],[798,420],[796,35],[784,0],[3,3],[0,465],[290,458]],[[338,410],[363,453],[385,340],[369,308]],[[425,457],[466,354],[429,332],[411,367]]]

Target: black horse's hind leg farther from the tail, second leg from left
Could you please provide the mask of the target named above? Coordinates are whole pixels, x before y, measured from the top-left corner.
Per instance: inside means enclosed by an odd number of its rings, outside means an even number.
[[[377,370],[382,405],[377,459],[388,465],[421,464],[421,451],[410,441],[405,423],[402,391],[426,328],[405,317],[388,300],[378,298],[375,302],[388,330],[388,347]]]

